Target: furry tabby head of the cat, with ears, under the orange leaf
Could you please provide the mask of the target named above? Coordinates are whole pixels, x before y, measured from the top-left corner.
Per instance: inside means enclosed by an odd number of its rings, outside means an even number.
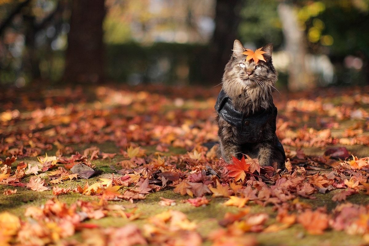
[[[242,94],[248,89],[259,89],[261,93],[271,93],[277,81],[277,73],[272,63],[272,44],[262,49],[263,60],[255,63],[254,59],[246,60],[244,46],[238,40],[234,41],[233,53],[224,69],[223,87],[228,93]]]

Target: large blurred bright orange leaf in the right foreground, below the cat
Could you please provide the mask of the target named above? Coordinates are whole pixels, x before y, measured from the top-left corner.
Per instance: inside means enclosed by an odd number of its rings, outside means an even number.
[[[328,215],[319,210],[306,209],[297,216],[297,221],[304,226],[308,233],[313,235],[323,234],[328,228]]]

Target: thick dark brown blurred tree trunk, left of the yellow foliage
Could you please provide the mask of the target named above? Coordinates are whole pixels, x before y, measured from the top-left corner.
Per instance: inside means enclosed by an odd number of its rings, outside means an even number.
[[[101,83],[104,78],[104,0],[73,0],[64,80]]]

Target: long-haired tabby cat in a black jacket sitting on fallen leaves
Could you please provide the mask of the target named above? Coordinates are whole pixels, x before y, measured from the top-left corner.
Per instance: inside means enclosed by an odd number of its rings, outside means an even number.
[[[273,46],[268,44],[261,50],[265,61],[246,61],[244,46],[234,41],[215,103],[220,154],[227,163],[232,156],[246,154],[258,158],[261,166],[276,162],[283,168],[286,155],[275,132],[277,108],[272,97],[278,77],[272,63]]]

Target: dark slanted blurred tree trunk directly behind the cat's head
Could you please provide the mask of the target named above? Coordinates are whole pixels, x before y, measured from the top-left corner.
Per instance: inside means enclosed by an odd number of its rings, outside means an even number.
[[[233,42],[237,38],[239,11],[242,0],[217,0],[215,7],[215,29],[210,41],[209,60],[204,74],[210,83],[220,83],[224,66],[230,59]]]

